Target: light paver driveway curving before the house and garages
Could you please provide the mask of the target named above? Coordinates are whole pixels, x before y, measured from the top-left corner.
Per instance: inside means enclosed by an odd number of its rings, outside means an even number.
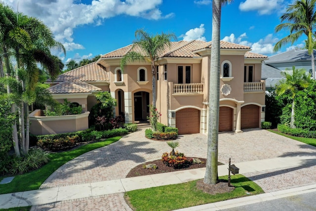
[[[178,151],[187,157],[206,158],[207,136],[179,136]],[[170,147],[144,137],[144,129],[122,137],[109,146],[85,153],[56,170],[41,188],[124,178],[129,170],[160,159]],[[224,164],[316,153],[316,148],[262,129],[219,134],[218,161]]]

